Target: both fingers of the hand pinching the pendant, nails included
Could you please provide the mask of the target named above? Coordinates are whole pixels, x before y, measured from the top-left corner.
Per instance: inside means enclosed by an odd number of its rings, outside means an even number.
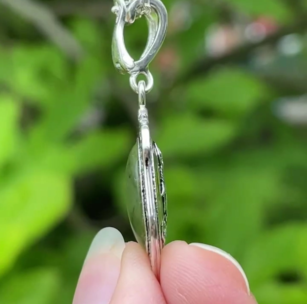
[[[114,228],[91,244],[73,304],[256,304],[241,266],[221,249],[175,241],[161,254],[160,283],[149,259]]]

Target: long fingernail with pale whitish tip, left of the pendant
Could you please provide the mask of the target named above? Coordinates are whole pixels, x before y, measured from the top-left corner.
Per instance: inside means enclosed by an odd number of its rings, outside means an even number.
[[[99,231],[91,243],[73,304],[109,304],[120,272],[125,241],[115,228]]]

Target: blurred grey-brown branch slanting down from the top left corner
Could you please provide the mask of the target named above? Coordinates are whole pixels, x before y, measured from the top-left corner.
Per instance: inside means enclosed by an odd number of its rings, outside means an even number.
[[[46,6],[33,0],[0,0],[21,17],[33,23],[49,40],[74,59],[83,55],[82,47],[72,34],[60,24]]]

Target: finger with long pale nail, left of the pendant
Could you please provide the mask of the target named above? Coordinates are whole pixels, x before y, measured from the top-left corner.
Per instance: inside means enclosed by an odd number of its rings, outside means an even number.
[[[166,304],[148,256],[125,244],[114,228],[102,229],[85,259],[73,304]]]

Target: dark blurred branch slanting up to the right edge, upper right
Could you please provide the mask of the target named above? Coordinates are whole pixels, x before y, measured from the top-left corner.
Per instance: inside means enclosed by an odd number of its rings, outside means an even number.
[[[256,48],[266,45],[266,44],[274,44],[280,38],[285,35],[292,33],[303,33],[307,29],[307,16],[300,18],[296,22],[291,25],[285,26],[278,30],[276,33],[267,36],[265,39],[259,41],[258,43],[250,43],[244,44],[238,48],[235,48],[232,52],[228,54],[217,57],[217,58],[208,58],[197,61],[194,63],[187,71],[185,71],[182,75],[175,80],[174,86],[185,83],[186,81],[190,81],[197,76],[208,73],[213,67],[218,66],[220,64],[228,64],[228,63],[237,63],[238,61],[246,60],[248,56],[250,56],[251,52]]]

